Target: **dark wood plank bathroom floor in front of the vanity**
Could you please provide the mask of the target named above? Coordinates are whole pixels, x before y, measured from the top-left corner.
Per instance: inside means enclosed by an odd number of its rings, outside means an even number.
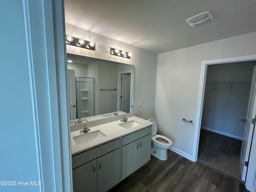
[[[109,192],[248,192],[248,190],[237,180],[168,150],[168,160],[161,161],[151,156],[150,162]]]

